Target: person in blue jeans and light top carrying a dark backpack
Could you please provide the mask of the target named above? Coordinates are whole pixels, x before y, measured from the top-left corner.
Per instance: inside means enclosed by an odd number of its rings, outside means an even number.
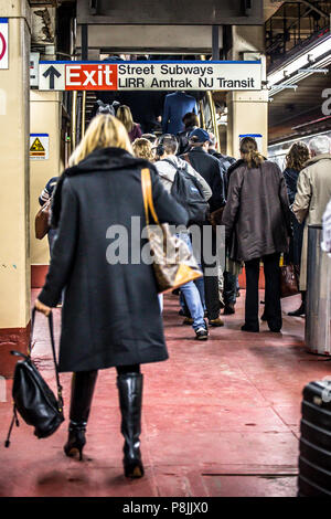
[[[203,221],[207,210],[206,201],[212,195],[212,190],[207,182],[184,160],[175,156],[178,140],[174,135],[166,134],[159,140],[157,157],[154,162],[159,177],[166,190],[171,193],[177,201],[186,209],[190,223]],[[186,232],[179,234],[186,245],[192,248],[190,235]],[[192,327],[197,340],[206,340],[209,331],[204,320],[204,289],[203,278],[186,283],[181,286],[186,306],[191,314]],[[186,319],[184,320],[186,324]]]

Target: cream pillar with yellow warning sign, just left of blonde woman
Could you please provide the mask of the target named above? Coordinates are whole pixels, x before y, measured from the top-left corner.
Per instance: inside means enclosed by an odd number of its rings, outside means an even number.
[[[30,218],[31,218],[31,286],[40,287],[49,268],[49,241],[36,240],[34,218],[40,209],[39,195],[52,177],[63,171],[61,160],[62,94],[60,92],[30,93],[31,134],[49,134],[50,157],[45,160],[30,160]]]

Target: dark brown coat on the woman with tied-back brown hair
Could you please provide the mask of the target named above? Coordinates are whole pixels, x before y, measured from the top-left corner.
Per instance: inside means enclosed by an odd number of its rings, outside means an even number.
[[[290,209],[276,163],[265,160],[249,169],[243,161],[232,171],[222,223],[231,260],[248,262],[288,251]]]

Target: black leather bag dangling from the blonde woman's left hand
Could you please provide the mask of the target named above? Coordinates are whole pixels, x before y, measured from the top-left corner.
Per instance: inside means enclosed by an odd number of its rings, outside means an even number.
[[[57,399],[51,388],[43,380],[31,359],[34,317],[35,308],[32,310],[29,353],[24,354],[20,351],[11,351],[11,354],[23,357],[23,360],[18,361],[14,370],[12,386],[13,417],[4,444],[6,447],[9,447],[10,445],[10,435],[13,425],[15,424],[19,426],[18,412],[28,425],[32,425],[34,427],[34,435],[39,438],[51,436],[64,421],[62,386],[60,384],[55,356],[53,315],[51,313],[49,316],[49,327],[56,374]]]

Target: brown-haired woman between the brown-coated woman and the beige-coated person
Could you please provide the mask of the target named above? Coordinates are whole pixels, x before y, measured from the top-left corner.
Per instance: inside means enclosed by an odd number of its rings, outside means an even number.
[[[310,153],[308,146],[305,142],[295,142],[286,156],[286,169],[284,170],[284,178],[287,186],[287,194],[290,205],[293,203],[297,194],[297,183],[301,169],[309,160]],[[289,261],[296,266],[297,272],[300,272],[301,251],[303,240],[305,222],[299,223],[296,216],[291,215],[292,236],[290,241]],[[301,292],[301,305],[295,311],[289,311],[289,316],[299,317],[306,314],[306,292]]]

